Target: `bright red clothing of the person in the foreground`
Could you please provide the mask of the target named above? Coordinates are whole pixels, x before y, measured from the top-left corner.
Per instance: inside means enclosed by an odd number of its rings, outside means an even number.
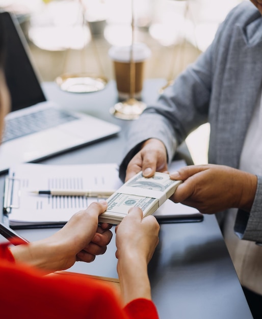
[[[106,283],[83,276],[41,276],[37,269],[16,264],[7,245],[0,245],[0,287],[1,318],[159,318],[147,299],[123,308]]]

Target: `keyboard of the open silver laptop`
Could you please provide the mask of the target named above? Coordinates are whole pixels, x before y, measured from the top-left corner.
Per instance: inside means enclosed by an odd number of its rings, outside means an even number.
[[[5,121],[3,142],[77,119],[64,111],[45,109]]]

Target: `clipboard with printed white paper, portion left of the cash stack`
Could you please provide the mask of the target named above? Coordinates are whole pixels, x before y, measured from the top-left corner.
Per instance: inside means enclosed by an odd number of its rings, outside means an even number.
[[[121,185],[117,164],[18,164],[10,168],[5,180],[3,215],[13,229],[62,227],[75,212],[101,198],[45,196],[33,194],[33,190],[53,187],[103,191],[117,190]]]

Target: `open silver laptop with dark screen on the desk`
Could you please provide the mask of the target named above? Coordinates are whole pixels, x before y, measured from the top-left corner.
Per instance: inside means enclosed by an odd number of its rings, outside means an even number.
[[[12,99],[0,146],[0,172],[36,162],[75,147],[116,135],[118,125],[82,113],[70,113],[47,100],[33,67],[27,41],[15,16],[0,12],[5,28],[5,74]]]

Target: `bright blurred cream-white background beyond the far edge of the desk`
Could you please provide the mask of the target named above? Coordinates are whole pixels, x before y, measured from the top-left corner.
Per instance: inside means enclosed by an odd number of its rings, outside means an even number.
[[[152,50],[145,78],[169,78],[206,49],[228,11],[243,0],[133,1],[135,41]],[[18,17],[43,81],[64,72],[96,72],[94,55],[104,75],[114,78],[108,50],[130,44],[131,6],[131,0],[0,0]]]

